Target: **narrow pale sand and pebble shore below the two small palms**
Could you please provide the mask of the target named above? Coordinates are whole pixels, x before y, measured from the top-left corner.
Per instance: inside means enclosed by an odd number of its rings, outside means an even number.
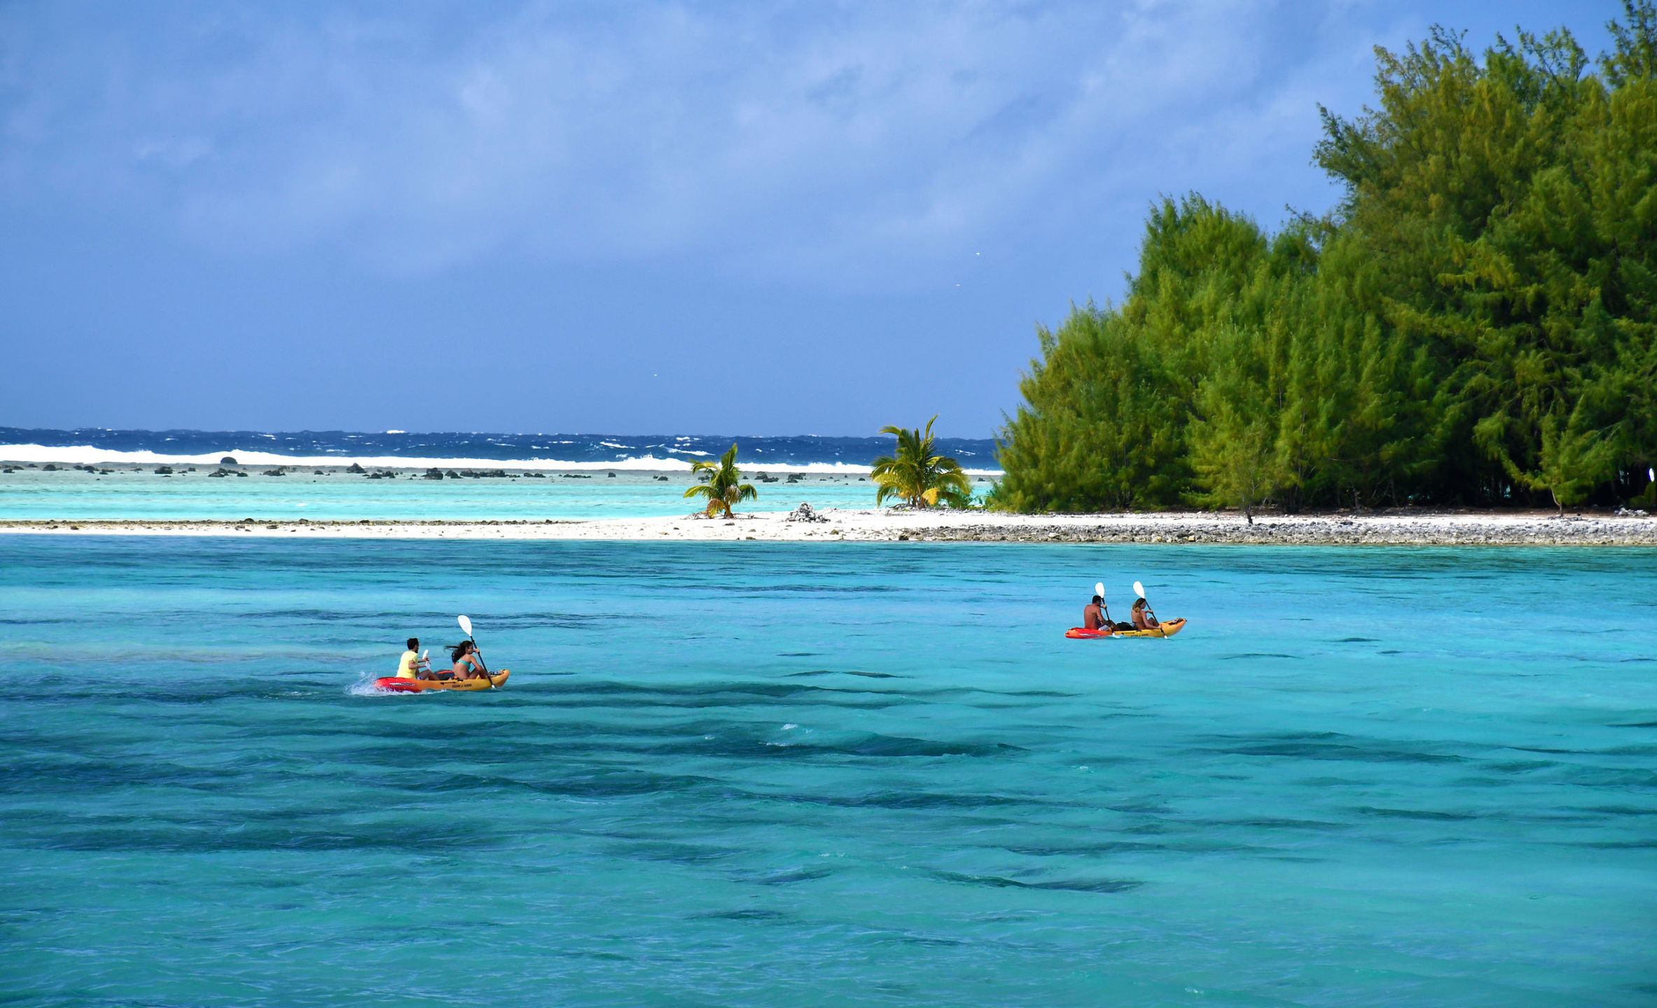
[[[0,535],[147,535],[338,540],[928,541],[1322,546],[1657,546],[1657,518],[1521,513],[1271,515],[1211,511],[1002,515],[824,510],[817,521],[757,511],[734,521],[676,518],[499,521],[3,520]]]

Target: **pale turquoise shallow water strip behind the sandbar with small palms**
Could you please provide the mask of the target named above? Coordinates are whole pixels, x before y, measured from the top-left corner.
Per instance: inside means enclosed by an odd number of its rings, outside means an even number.
[[[212,478],[210,467],[172,477],[156,475],[156,467],[123,467],[111,475],[76,470],[41,472],[20,468],[0,473],[0,520],[48,518],[240,518],[318,521],[376,520],[570,520],[650,518],[684,515],[694,502],[684,500],[691,485],[684,472],[656,473],[603,470],[592,478],[459,478],[370,480],[333,472],[330,475],[260,475],[260,467],[242,477]],[[759,470],[746,472],[756,478]],[[988,490],[989,483],[974,483]],[[746,510],[790,511],[809,502],[814,508],[870,508],[875,490],[855,475],[805,473],[802,482],[756,483],[759,500]]]

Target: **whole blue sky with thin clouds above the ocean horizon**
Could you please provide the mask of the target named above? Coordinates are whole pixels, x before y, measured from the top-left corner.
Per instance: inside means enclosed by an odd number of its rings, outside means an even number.
[[[1582,3],[0,5],[0,425],[986,437],[1148,204]]]

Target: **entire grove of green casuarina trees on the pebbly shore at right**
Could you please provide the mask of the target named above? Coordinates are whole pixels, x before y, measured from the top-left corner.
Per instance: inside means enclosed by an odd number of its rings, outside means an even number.
[[[1150,209],[1120,305],[1039,329],[999,508],[1645,500],[1657,465],[1657,5],[1377,50],[1345,189],[1276,235]]]

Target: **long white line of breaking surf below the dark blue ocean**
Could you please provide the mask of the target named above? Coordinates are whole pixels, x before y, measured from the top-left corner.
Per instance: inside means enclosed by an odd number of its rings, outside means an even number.
[[[683,449],[669,449],[681,452]],[[706,452],[684,452],[686,455],[706,455]],[[257,452],[250,449],[227,449],[205,455],[164,455],[161,452],[111,452],[94,445],[48,447],[48,445],[0,445],[0,460],[5,462],[55,462],[60,465],[219,465],[219,458],[230,455],[237,465],[282,465],[288,468],[320,468],[361,465],[363,468],[529,468],[529,470],[623,470],[623,472],[689,472],[689,462],[683,458],[659,458],[656,455],[640,455],[618,462],[568,462],[562,458],[411,458],[408,455],[277,455],[275,452]],[[867,465],[850,462],[739,462],[744,477],[754,473],[832,473],[832,475],[868,475]],[[968,475],[999,477],[999,468],[968,468]]]

